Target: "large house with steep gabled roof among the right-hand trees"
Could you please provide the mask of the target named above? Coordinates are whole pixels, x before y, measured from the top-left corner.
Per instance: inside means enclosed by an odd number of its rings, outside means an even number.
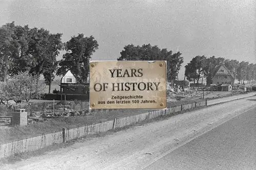
[[[234,77],[231,72],[225,67],[224,64],[216,65],[212,70],[212,79],[213,84],[234,84]]]

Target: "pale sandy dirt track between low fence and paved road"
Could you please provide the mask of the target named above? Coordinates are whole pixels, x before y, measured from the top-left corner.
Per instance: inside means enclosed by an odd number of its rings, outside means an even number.
[[[255,99],[253,96],[250,99]],[[143,169],[183,144],[256,107],[241,99],[76,143],[1,169]],[[148,153],[148,154],[146,154]]]

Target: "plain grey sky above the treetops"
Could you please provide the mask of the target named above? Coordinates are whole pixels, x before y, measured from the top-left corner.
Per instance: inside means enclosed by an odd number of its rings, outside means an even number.
[[[180,51],[184,66],[195,56],[256,63],[255,1],[236,0],[0,0],[0,25],[45,28],[62,41],[93,35],[93,60],[116,60],[127,44]],[[58,57],[61,58],[61,56]]]

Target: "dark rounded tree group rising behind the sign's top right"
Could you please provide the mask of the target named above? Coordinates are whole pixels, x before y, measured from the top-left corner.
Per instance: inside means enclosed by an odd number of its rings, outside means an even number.
[[[159,61],[165,60],[167,63],[167,80],[173,82],[176,80],[181,64],[183,63],[183,57],[181,53],[173,54],[172,51],[168,51],[166,48],[162,50],[157,46],[151,44],[143,44],[142,46],[134,46],[129,44],[124,46],[124,50],[120,52],[118,61]]]

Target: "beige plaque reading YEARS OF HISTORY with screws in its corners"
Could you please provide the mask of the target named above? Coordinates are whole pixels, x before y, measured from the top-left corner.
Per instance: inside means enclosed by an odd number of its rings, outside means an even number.
[[[166,108],[166,61],[91,61],[90,109]]]

